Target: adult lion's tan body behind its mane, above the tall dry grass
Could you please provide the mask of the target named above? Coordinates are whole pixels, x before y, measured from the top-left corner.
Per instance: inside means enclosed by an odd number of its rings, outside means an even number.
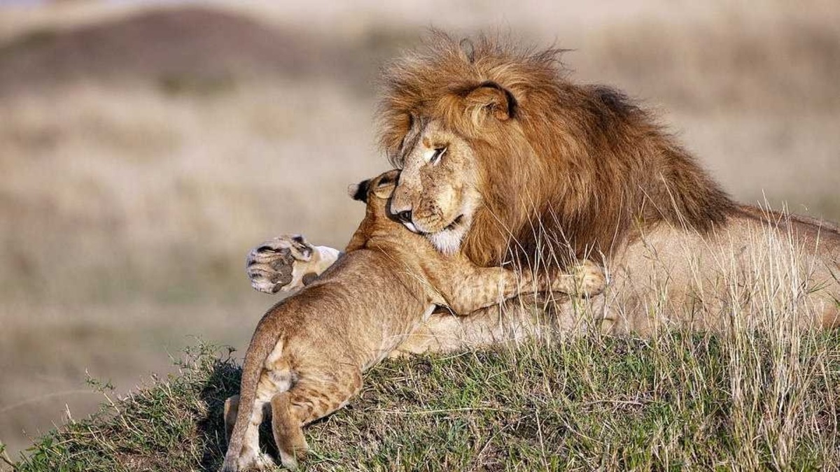
[[[701,234],[659,225],[614,254],[602,329],[762,326],[840,321],[840,233],[830,226],[738,207]],[[732,316],[750,319],[733,320]],[[756,319],[758,317],[758,319]],[[779,319],[761,319],[779,317]]]

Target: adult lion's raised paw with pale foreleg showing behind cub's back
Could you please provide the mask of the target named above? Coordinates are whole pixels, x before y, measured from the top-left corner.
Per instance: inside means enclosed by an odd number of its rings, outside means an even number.
[[[255,290],[293,291],[321,275],[341,252],[309,244],[300,234],[284,234],[251,249],[245,271]]]

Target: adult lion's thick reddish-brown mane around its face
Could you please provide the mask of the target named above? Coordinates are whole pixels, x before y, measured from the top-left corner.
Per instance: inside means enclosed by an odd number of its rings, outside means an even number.
[[[470,259],[609,259],[655,224],[704,233],[725,223],[736,205],[654,115],[622,92],[568,80],[560,52],[486,37],[459,45],[433,32],[386,67],[378,118],[393,164],[412,120],[429,118],[468,139],[480,160]],[[488,84],[505,92],[509,119],[470,108],[470,92]]]

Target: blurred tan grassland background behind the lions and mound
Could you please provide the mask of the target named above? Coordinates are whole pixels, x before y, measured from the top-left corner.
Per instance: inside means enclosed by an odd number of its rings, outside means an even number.
[[[172,370],[243,354],[248,249],[343,247],[386,170],[375,81],[428,26],[570,49],[743,202],[840,220],[840,8],[787,2],[0,2],[0,440],[14,454]]]

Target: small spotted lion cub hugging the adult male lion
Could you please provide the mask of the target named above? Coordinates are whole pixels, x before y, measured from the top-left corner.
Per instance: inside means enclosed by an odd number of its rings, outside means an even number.
[[[392,221],[386,205],[398,176],[391,170],[360,183],[354,198],[365,201],[367,210],[347,253],[257,324],[240,396],[225,403],[224,471],[272,464],[258,441],[269,404],[281,462],[297,467],[307,451],[303,425],[346,405],[360,391],[362,372],[391,353],[436,305],[470,313],[533,290],[528,273],[440,254],[423,236]],[[596,265],[585,265],[577,275],[560,275],[538,288],[595,294],[603,282]]]

